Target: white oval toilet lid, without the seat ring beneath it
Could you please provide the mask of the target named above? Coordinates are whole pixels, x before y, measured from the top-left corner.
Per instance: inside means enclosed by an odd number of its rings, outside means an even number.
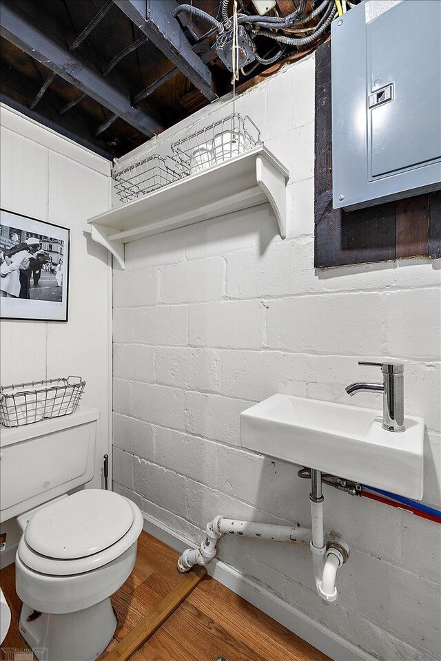
[[[133,520],[123,496],[86,489],[36,512],[25,529],[25,541],[48,558],[85,558],[115,544]]]

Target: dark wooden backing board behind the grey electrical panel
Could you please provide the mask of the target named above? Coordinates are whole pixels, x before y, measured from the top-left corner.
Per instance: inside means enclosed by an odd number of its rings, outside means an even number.
[[[331,44],[316,50],[314,266],[441,256],[441,191],[345,211],[332,206]]]

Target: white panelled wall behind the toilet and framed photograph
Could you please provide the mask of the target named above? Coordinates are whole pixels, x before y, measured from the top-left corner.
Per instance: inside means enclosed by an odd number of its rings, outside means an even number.
[[[112,268],[86,220],[110,204],[110,160],[6,105],[1,117],[1,207],[70,228],[69,320],[1,319],[1,384],[80,375],[83,403],[99,408],[96,474],[108,452]]]

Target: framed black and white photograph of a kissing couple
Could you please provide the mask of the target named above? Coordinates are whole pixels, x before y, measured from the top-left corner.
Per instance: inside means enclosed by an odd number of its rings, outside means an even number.
[[[0,316],[68,321],[70,230],[0,209]]]

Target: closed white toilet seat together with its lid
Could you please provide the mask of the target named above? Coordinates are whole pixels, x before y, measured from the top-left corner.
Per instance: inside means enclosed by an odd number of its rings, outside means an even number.
[[[84,574],[125,553],[142,529],[143,516],[132,501],[114,492],[84,490],[36,512],[17,555],[47,576]]]

